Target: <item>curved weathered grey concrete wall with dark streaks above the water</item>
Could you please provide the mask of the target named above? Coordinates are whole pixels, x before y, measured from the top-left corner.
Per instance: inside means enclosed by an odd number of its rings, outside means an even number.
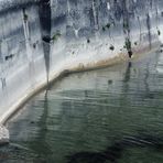
[[[162,0],[0,0],[0,121],[64,70],[155,50],[162,22]]]

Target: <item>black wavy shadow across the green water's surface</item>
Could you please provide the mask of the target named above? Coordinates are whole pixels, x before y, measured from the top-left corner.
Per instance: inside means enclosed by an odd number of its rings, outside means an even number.
[[[124,150],[132,148],[151,148],[161,152],[163,139],[153,135],[126,137],[102,152],[79,152],[67,156],[67,163],[117,163]]]

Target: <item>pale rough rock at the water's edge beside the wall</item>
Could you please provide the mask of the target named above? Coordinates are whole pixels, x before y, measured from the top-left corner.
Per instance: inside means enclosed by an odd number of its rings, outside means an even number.
[[[6,127],[0,126],[0,145],[9,143],[9,130]]]

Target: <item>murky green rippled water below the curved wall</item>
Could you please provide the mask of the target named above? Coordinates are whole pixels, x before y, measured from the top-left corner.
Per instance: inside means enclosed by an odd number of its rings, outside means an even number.
[[[8,122],[0,162],[162,163],[162,55],[57,80]]]

